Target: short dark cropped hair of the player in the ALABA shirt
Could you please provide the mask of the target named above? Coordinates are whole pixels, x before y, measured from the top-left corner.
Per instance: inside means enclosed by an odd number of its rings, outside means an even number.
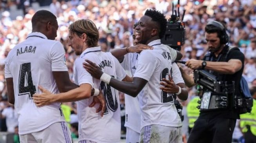
[[[35,27],[39,26],[42,23],[45,22],[52,22],[54,23],[56,21],[56,16],[51,13],[50,11],[47,10],[40,10],[37,11],[33,17],[32,17],[32,29],[34,29]]]

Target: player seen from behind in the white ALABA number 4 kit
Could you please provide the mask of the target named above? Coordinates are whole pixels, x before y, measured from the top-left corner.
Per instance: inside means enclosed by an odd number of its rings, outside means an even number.
[[[9,52],[5,61],[8,101],[18,113],[21,143],[72,142],[60,103],[38,108],[32,100],[34,93],[40,93],[38,85],[51,93],[78,87],[69,79],[62,44],[54,40],[57,29],[54,14],[37,11],[32,18],[32,33]]]

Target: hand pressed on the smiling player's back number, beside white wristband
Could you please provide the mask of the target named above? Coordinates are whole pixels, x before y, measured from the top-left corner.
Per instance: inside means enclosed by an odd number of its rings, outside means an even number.
[[[164,82],[160,82],[160,84],[162,85],[162,87],[160,87],[160,89],[162,89],[163,92],[172,93],[172,94],[179,92],[179,86],[177,86],[174,83],[174,81],[172,80],[170,75],[169,75],[169,80],[162,79],[162,81],[164,81]]]

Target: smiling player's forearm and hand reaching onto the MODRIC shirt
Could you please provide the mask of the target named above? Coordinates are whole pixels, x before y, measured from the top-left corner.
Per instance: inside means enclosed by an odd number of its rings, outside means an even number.
[[[84,64],[84,68],[96,79],[100,79],[103,72],[95,63],[85,60],[87,63]],[[144,88],[144,86],[147,84],[147,80],[134,77],[133,82],[125,82],[125,81],[119,81],[114,78],[111,78],[109,85],[113,88],[131,95],[132,97],[136,97],[140,91]]]

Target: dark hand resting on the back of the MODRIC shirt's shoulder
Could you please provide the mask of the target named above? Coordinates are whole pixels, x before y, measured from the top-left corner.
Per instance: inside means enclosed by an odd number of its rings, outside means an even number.
[[[85,61],[87,62],[83,63],[85,70],[88,71],[94,78],[100,79],[103,74],[101,68],[90,60],[86,59]]]

